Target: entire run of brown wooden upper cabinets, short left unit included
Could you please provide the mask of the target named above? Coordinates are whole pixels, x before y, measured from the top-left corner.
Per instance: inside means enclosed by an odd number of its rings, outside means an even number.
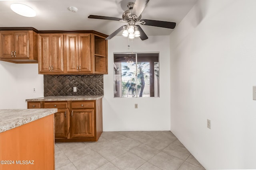
[[[106,37],[93,30],[0,27],[0,60],[38,63],[39,74],[108,74]]]

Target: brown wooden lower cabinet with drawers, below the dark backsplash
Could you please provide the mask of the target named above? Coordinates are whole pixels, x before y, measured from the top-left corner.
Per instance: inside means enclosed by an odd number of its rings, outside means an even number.
[[[54,113],[55,142],[98,141],[102,134],[102,99],[28,102],[28,109],[58,108]]]

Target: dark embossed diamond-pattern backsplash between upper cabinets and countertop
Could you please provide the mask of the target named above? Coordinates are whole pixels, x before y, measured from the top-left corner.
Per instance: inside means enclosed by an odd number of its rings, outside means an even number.
[[[77,92],[73,92],[76,87]],[[103,95],[103,75],[44,75],[44,96]]]

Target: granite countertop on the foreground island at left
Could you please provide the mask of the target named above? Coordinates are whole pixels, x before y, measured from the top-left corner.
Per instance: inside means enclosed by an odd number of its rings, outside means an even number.
[[[0,109],[0,133],[57,112],[58,109]]]

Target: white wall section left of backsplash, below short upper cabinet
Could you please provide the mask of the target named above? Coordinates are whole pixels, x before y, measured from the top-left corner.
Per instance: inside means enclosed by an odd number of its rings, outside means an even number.
[[[0,96],[0,109],[26,109],[26,99],[44,96],[44,78],[38,74],[38,64],[0,61]]]

